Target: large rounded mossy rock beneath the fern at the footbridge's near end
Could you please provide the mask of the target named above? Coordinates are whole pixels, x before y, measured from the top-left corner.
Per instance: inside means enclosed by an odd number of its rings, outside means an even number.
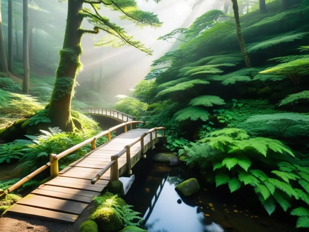
[[[96,222],[99,232],[118,232],[124,227],[113,208],[98,208],[89,219]]]

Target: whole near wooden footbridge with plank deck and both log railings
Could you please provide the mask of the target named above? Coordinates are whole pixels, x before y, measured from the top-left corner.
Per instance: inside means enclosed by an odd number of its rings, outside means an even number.
[[[128,126],[131,128],[132,124],[137,123],[143,122],[124,122],[60,154],[51,154],[48,163],[6,190],[6,194],[11,193],[50,167],[49,180],[8,208],[7,214],[74,222],[93,197],[100,195],[109,181],[119,180],[125,170],[131,174],[131,168],[141,157],[146,157],[146,151],[164,140],[164,127],[127,131]],[[125,133],[111,139],[111,132],[120,127],[125,127]],[[162,136],[158,136],[158,130],[162,130]],[[108,142],[96,148],[95,141],[105,135]],[[58,171],[59,159],[89,143],[91,152]]]

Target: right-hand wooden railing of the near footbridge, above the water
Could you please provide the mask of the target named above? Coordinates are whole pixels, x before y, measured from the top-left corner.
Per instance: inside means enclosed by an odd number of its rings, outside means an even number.
[[[119,180],[118,158],[120,158],[124,153],[126,153],[126,158],[127,158],[126,164],[127,164],[129,174],[132,174],[130,148],[140,141],[141,142],[142,155],[143,155],[144,158],[146,158],[145,147],[144,147],[145,136],[150,134],[150,147],[152,147],[153,146],[152,132],[155,131],[155,141],[157,141],[158,140],[158,130],[162,130],[162,136],[164,137],[164,129],[165,129],[165,127],[152,128],[149,131],[142,134],[141,136],[139,136],[138,138],[136,138],[130,144],[126,145],[119,153],[112,155],[111,156],[111,162],[108,165],[106,165],[106,167],[104,169],[102,169],[98,174],[96,174],[96,176],[91,180],[91,184],[95,184],[103,176],[103,174],[107,172],[108,169],[111,169],[110,180],[111,181]]]

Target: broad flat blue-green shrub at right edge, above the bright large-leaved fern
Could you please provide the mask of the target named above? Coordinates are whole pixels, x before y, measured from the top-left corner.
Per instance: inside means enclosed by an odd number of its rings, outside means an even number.
[[[307,114],[278,113],[251,116],[239,127],[252,135],[281,138],[306,135],[308,125]]]

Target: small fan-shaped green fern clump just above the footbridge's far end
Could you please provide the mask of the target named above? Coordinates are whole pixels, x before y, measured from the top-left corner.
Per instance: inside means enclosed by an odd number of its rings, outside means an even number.
[[[202,121],[207,121],[210,114],[207,110],[204,110],[198,106],[190,106],[188,108],[177,111],[174,114],[175,120],[178,122],[190,119],[191,121],[196,121],[201,119]]]

